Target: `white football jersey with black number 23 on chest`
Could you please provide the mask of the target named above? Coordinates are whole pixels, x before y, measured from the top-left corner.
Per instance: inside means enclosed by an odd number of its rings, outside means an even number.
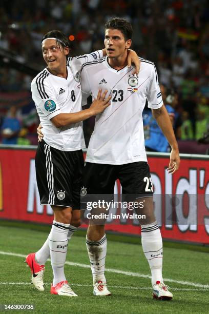
[[[153,109],[160,108],[163,102],[154,63],[140,60],[138,76],[132,75],[133,67],[115,70],[107,57],[82,66],[83,94],[95,98],[102,88],[112,95],[111,105],[96,116],[87,162],[121,165],[147,161],[142,111],[147,99]]]

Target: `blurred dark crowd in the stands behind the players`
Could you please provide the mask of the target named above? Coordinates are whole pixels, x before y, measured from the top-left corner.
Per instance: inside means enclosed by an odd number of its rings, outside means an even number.
[[[124,17],[132,23],[132,49],[156,65],[180,151],[204,153],[205,149],[198,150],[203,144],[194,148],[194,143],[206,138],[209,131],[209,6],[206,0],[13,0],[12,5],[2,0],[0,51],[5,56],[9,52],[19,63],[40,71],[45,67],[41,55],[44,33],[52,29],[65,32],[70,36],[71,55],[85,54],[103,48],[103,26],[113,16]],[[39,121],[30,94],[32,78],[14,68],[0,68],[3,143],[11,138],[9,119],[13,119],[16,143],[37,143],[35,133]],[[143,120],[148,148],[152,146],[149,140],[152,134],[159,132],[150,113],[145,108]],[[93,125],[93,120],[85,123],[87,142]],[[181,146],[183,141],[186,145]],[[161,151],[168,150],[168,145],[165,146]],[[156,149],[150,147],[150,150]]]

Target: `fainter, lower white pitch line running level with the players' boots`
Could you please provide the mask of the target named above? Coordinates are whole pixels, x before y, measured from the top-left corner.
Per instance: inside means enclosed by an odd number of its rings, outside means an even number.
[[[24,285],[24,286],[29,286],[32,285],[30,282],[0,282],[0,285]],[[49,286],[51,283],[45,283],[45,286]],[[76,286],[76,287],[92,287],[92,285],[82,285],[82,284],[70,284],[71,286]],[[127,286],[110,286],[108,285],[109,288],[117,288],[117,289],[132,289],[132,290],[151,290],[151,287],[127,287]],[[208,289],[205,288],[199,288],[199,289],[194,289],[194,288],[172,288],[172,291],[205,291],[207,292]]]

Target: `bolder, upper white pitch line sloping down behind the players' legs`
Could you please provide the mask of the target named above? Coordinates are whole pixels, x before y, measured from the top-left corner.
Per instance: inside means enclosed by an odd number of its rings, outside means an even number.
[[[0,251],[0,254],[26,258],[26,256],[24,254],[18,254],[18,253],[12,253],[12,252]],[[87,264],[73,263],[73,262],[68,262],[68,261],[66,261],[66,264],[70,265],[70,266],[78,266],[78,267],[82,267],[82,268],[91,268],[91,266],[87,265]],[[123,271],[123,270],[118,270],[118,269],[113,269],[113,268],[106,268],[105,270],[108,271],[108,272],[124,274],[126,276],[140,277],[140,278],[149,278],[149,279],[152,278],[149,275],[145,275],[145,274],[142,274],[142,273],[139,273],[139,272]],[[174,280],[174,279],[170,279],[170,278],[164,278],[164,281],[174,282],[174,283],[180,284],[180,285],[193,286],[193,287],[203,288],[203,289],[208,289],[209,288],[209,285],[203,285],[203,284],[200,284],[200,283],[194,283],[194,282],[189,282],[189,281],[179,281],[179,280]]]

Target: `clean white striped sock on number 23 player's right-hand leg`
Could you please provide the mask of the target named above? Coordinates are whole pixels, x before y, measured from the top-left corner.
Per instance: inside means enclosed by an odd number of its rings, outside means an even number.
[[[152,285],[162,281],[162,237],[157,222],[141,225],[141,244],[152,273]]]

